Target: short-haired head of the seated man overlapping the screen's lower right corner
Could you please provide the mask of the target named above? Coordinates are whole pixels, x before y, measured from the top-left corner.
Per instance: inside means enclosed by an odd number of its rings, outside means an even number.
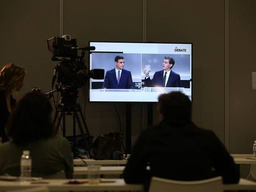
[[[192,103],[186,94],[174,91],[158,97],[158,110],[164,120],[182,126],[191,120]]]

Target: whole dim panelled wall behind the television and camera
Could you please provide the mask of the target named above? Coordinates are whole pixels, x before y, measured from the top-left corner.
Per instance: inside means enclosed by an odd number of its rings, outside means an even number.
[[[27,69],[19,99],[33,86],[51,90],[51,36],[69,34],[79,46],[90,40],[192,42],[194,122],[215,131],[230,152],[250,153],[256,139],[255,9],[254,0],[2,0],[0,67],[15,62]],[[87,87],[79,91],[79,103],[90,133],[125,132],[126,104],[88,103],[87,93]],[[132,104],[132,141],[143,128],[147,104]],[[72,126],[67,131],[72,135]]]

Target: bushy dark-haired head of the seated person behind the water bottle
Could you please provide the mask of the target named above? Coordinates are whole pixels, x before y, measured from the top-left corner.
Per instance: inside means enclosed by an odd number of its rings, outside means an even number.
[[[25,94],[11,115],[7,135],[16,144],[27,144],[53,135],[49,98],[39,91]]]

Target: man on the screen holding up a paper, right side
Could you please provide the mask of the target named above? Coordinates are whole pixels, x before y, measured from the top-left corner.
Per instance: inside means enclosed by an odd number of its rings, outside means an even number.
[[[148,69],[144,69],[145,86],[181,87],[181,77],[172,70],[175,61],[173,57],[164,57],[163,70],[155,72],[150,79]]]

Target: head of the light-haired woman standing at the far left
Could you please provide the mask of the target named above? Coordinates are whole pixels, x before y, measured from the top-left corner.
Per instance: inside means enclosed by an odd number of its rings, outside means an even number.
[[[6,90],[11,93],[17,81],[23,80],[25,74],[25,69],[13,63],[4,65],[0,71],[0,90]]]

